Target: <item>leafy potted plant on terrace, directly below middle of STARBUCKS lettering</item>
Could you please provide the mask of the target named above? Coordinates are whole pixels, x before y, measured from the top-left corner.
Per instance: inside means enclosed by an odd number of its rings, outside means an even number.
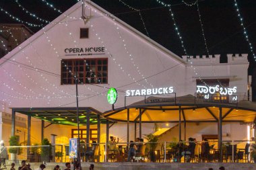
[[[149,155],[150,155],[150,161],[152,162],[156,162],[156,147],[158,146],[158,139],[159,136],[156,136],[154,134],[146,134],[144,135],[146,140],[148,140],[147,142],[147,146],[149,147],[150,151],[149,151]]]

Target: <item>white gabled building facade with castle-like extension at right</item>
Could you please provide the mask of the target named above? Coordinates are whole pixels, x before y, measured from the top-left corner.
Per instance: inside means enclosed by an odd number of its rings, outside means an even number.
[[[227,63],[220,63],[219,54],[180,58],[92,2],[86,1],[84,11],[86,19],[81,19],[82,3],[77,3],[0,60],[2,119],[11,114],[9,108],[75,107],[75,68],[79,76],[79,106],[102,113],[112,109],[106,99],[110,87],[118,91],[115,108],[141,100],[132,97],[125,103],[127,90],[173,87],[179,97],[195,95],[197,85],[203,83],[236,87],[238,101],[248,100],[247,54],[228,54]],[[32,121],[32,140],[40,142],[40,120]],[[1,125],[3,132],[5,126]],[[197,126],[202,126],[201,130],[188,132],[187,136],[201,140],[201,134],[217,134],[215,125]],[[233,126],[239,127],[241,135],[226,139],[247,138],[247,124],[224,125],[225,134],[235,134],[237,128]],[[126,142],[126,127],[117,123],[110,128],[110,134]],[[153,128],[154,124],[144,124],[142,134],[154,132]],[[60,142],[67,142],[72,137],[71,129],[73,126],[56,123],[51,130],[45,129],[45,136],[59,133]],[[133,138],[134,127],[130,130],[129,138]],[[105,126],[101,132],[104,142]],[[3,140],[9,137],[10,133],[1,136]],[[172,135],[161,140],[170,141]]]

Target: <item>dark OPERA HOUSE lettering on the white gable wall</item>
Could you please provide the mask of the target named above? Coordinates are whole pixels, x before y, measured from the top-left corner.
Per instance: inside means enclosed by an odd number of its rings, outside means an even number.
[[[105,54],[104,46],[86,48],[65,48],[65,56],[91,56]]]

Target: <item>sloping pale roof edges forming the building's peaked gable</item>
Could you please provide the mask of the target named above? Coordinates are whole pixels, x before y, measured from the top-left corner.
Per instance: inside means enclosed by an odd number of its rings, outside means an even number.
[[[152,46],[154,46],[155,48],[161,50],[162,52],[164,52],[165,54],[167,54],[168,56],[171,56],[172,58],[174,58],[175,60],[177,60],[178,62],[181,63],[186,63],[185,60],[183,60],[182,58],[180,58],[179,56],[177,56],[177,54],[174,54],[173,52],[170,52],[170,50],[168,50],[167,48],[164,48],[164,46],[158,44],[157,42],[155,42],[154,40],[148,38],[147,36],[145,36],[144,34],[142,34],[141,32],[135,30],[135,28],[129,26],[128,24],[126,24],[125,22],[123,22],[121,19],[115,17],[114,15],[112,15],[111,13],[109,13],[108,11],[106,11],[105,9],[102,9],[102,7],[96,5],[96,3],[93,3],[92,1],[86,1],[86,4],[94,7],[95,9],[97,9],[98,11],[105,13],[108,16],[111,16],[113,19],[115,19],[115,22],[117,22],[118,24],[121,24],[121,26],[124,26],[125,28],[127,28],[127,30],[130,30],[131,32],[133,32],[133,34],[136,34],[137,36],[139,36],[140,38],[143,38],[144,40],[146,40],[146,42],[148,42],[149,44],[152,44]],[[76,3],[75,5],[73,5],[73,7],[69,8],[67,11],[65,11],[64,13],[62,13],[61,15],[59,15],[59,17],[57,17],[55,20],[53,20],[53,22],[51,22],[50,24],[48,24],[47,26],[45,26],[44,28],[42,28],[41,30],[39,30],[38,32],[36,32],[36,34],[34,34],[33,36],[31,36],[28,40],[26,40],[25,42],[23,42],[22,44],[20,44],[20,46],[16,47],[15,49],[11,50],[11,52],[9,52],[9,54],[6,54],[4,59],[0,59],[0,67],[1,65],[3,65],[7,60],[11,59],[12,56],[14,56],[15,54],[17,54],[18,52],[20,52],[24,47],[28,46],[31,42],[33,42],[34,40],[36,40],[37,38],[39,38],[40,36],[42,36],[44,34],[44,32],[47,32],[48,30],[51,30],[51,28],[53,28],[56,24],[58,24],[59,22],[61,22],[63,19],[65,19],[70,13],[72,13],[73,11],[75,11],[76,9],[78,9],[79,7],[82,7],[82,2],[79,1],[78,3]]]

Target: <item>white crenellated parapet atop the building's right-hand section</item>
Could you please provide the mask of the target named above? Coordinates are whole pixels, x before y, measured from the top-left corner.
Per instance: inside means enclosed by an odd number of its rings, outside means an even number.
[[[228,64],[247,64],[248,54],[227,54]],[[197,55],[197,56],[182,56],[183,60],[187,61],[189,64],[192,62],[195,65],[201,64],[220,64],[220,54],[214,55]]]

